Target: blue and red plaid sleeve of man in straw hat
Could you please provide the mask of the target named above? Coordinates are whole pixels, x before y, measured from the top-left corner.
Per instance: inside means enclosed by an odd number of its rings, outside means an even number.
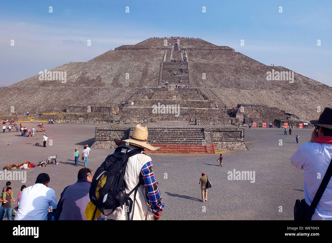
[[[164,203],[161,202],[161,194],[156,176],[153,173],[152,161],[147,162],[141,169],[140,182],[145,187],[145,197],[153,212],[162,211]]]

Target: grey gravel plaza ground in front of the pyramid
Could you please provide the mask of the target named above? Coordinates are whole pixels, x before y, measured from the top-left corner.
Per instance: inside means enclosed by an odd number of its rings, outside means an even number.
[[[25,122],[32,128],[39,122]],[[17,197],[21,185],[35,183],[40,173],[50,176],[49,187],[56,192],[57,200],[64,187],[77,181],[77,172],[84,167],[74,166],[74,149],[91,144],[95,137],[96,124],[44,122],[44,129],[52,146],[42,147],[43,132],[39,135],[39,146],[32,137],[21,137],[12,129],[0,134],[0,166],[23,163],[33,164],[45,161],[49,155],[58,156],[57,166],[47,165],[26,170],[27,181],[13,181],[14,196]],[[6,125],[8,126],[8,125]],[[311,137],[312,129],[292,129],[292,135],[283,135],[282,128],[246,128],[245,144],[248,151],[223,152],[223,167],[216,160],[219,154],[151,154],[154,172],[161,190],[165,208],[161,220],[293,220],[296,199],[304,198],[303,172],[290,163],[295,150]],[[296,144],[296,134],[300,136]],[[282,139],[282,146],[279,145]],[[11,145],[5,145],[11,143]],[[111,149],[91,149],[88,168],[96,171]],[[255,182],[231,181],[227,172],[254,171]],[[18,169],[15,169],[17,171]],[[2,170],[3,171],[3,170]],[[201,200],[199,179],[205,172],[212,188],[208,189],[208,199]],[[167,173],[167,174],[166,174]],[[167,175],[167,178],[166,178]],[[2,183],[2,184],[1,184]],[[3,187],[6,181],[0,181]],[[1,188],[2,188],[1,187]],[[12,203],[16,206],[16,201]],[[282,206],[282,212],[280,212]]]

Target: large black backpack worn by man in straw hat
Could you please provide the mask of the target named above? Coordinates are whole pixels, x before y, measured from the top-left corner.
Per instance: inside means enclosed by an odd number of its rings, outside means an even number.
[[[121,152],[122,149],[126,149],[127,151],[123,153]],[[113,209],[111,212],[113,213],[117,207],[124,204],[128,206],[129,211],[127,213],[128,219],[130,219],[129,213],[135,203],[136,192],[140,183],[129,193],[126,193],[124,174],[127,168],[128,158],[143,152],[138,149],[128,152],[128,149],[127,147],[118,147],[113,154],[107,156],[105,161],[94,173],[89,191],[90,200],[96,206],[92,220],[94,220],[97,208],[100,208],[103,214],[105,209]],[[135,191],[134,201],[129,197],[133,191]],[[130,201],[130,205],[128,200]]]

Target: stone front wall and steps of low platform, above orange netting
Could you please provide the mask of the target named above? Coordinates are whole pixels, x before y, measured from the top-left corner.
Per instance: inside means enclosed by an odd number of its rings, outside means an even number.
[[[125,140],[132,134],[135,124],[110,125],[95,128],[93,148],[116,148],[114,139]],[[244,129],[239,127],[148,127],[151,144],[215,145],[216,150],[247,150]]]

